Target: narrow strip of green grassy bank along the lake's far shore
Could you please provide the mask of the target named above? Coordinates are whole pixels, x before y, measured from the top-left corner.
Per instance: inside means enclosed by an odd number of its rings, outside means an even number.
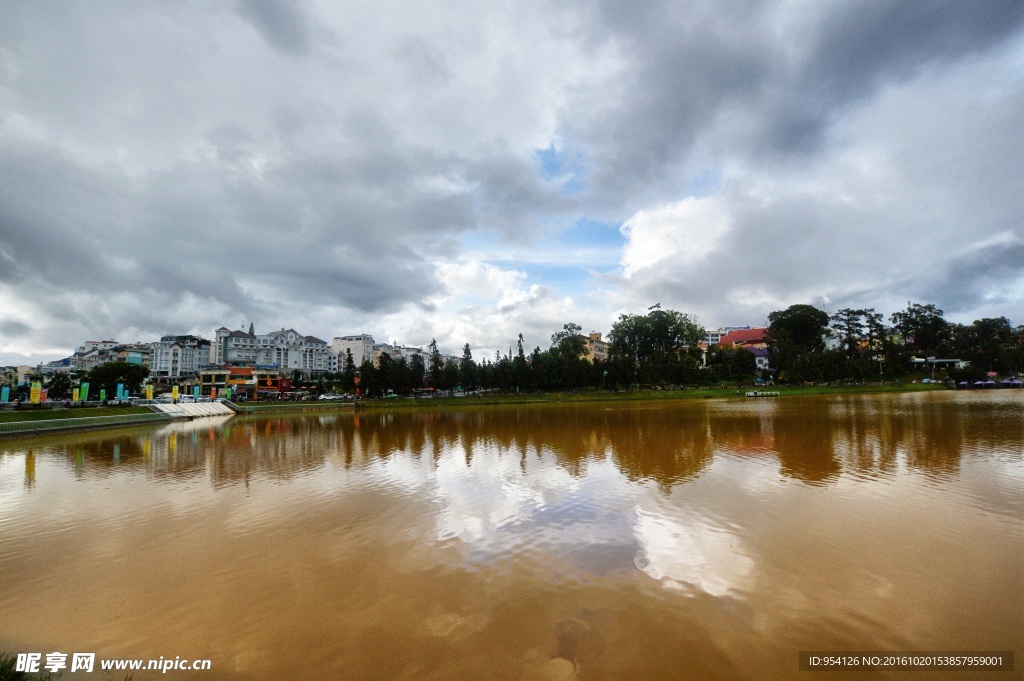
[[[802,386],[802,387],[771,387],[770,390],[778,392],[777,397],[765,397],[766,399],[784,399],[786,396],[806,395],[833,395],[833,394],[859,394],[859,393],[894,393],[894,392],[924,392],[935,390],[948,390],[942,385],[902,383],[899,385],[854,385],[854,386]],[[492,406],[508,405],[562,405],[570,402],[632,402],[650,400],[672,400],[672,399],[735,399],[741,397],[751,390],[764,391],[764,387],[741,386],[726,388],[686,388],[682,390],[630,390],[630,391],[609,391],[609,390],[588,390],[581,392],[548,392],[537,394],[515,394],[515,393],[486,393],[483,395],[467,395],[465,397],[431,397],[431,398],[398,398],[398,399],[367,399],[360,400],[356,405],[359,412],[388,412],[388,411],[433,411],[449,409],[477,409]],[[243,403],[240,406],[243,415],[256,414],[295,414],[302,412],[343,412],[351,413],[351,402],[336,401],[303,401],[303,402],[256,402]],[[67,425],[61,424],[60,430],[74,430],[77,423],[82,427],[94,428],[95,417],[121,416],[129,414],[151,414],[145,407],[96,407],[96,408],[76,408],[76,409],[26,409],[0,413],[0,424],[4,423],[25,423],[43,420],[67,420]],[[88,425],[87,425],[88,424]],[[115,424],[111,424],[115,425]],[[127,425],[127,424],[126,424]],[[38,432],[45,432],[47,429],[39,428]],[[19,428],[18,434],[27,435],[37,432],[31,427]]]

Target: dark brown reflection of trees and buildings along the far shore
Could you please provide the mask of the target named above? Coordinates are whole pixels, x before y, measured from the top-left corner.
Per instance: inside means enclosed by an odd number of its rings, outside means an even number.
[[[214,484],[231,484],[254,475],[289,479],[328,462],[358,468],[409,454],[436,464],[456,452],[471,466],[483,451],[514,457],[524,474],[542,458],[573,476],[585,475],[589,462],[610,458],[628,479],[668,488],[699,475],[716,451],[774,455],[784,475],[820,484],[842,472],[893,475],[900,459],[927,474],[955,474],[965,453],[1019,452],[1021,441],[1017,402],[850,395],[238,417],[9,439],[0,457],[27,456],[30,488],[49,455],[78,476],[137,470],[168,479],[209,475]]]

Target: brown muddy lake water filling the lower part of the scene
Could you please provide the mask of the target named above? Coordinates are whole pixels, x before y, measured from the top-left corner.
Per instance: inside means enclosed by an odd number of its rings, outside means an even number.
[[[967,679],[799,653],[1014,650],[1008,679],[1022,643],[1020,391],[0,441],[0,650],[211,661],[136,681]]]

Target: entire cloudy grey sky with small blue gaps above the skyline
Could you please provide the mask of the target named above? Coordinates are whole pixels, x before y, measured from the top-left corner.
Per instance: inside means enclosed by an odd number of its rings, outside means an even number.
[[[1024,3],[4,2],[0,364],[1024,323]]]

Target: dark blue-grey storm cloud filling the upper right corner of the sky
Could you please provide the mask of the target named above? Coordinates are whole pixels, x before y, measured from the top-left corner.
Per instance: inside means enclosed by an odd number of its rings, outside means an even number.
[[[590,15],[591,40],[627,67],[611,97],[566,128],[592,147],[606,199],[678,186],[702,143],[741,158],[814,153],[879,87],[1019,35],[1024,3],[602,2]]]

